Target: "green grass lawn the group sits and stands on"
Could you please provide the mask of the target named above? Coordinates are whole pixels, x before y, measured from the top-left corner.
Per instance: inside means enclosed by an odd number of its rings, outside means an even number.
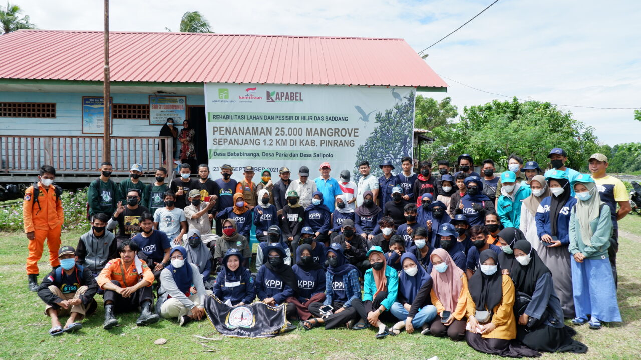
[[[630,236],[620,239],[619,306],[624,323],[590,331],[579,327],[576,340],[590,350],[586,355],[544,354],[545,359],[638,359],[641,354],[641,217],[629,216],[621,229]],[[63,245],[75,246],[78,234],[63,235]],[[480,354],[464,342],[402,333],[375,340],[374,331],[335,329],[297,330],[271,339],[233,339],[219,336],[208,321],[181,328],[162,320],[149,327],[135,327],[137,314],[119,315],[121,326],[104,331],[102,299],[99,310],[83,322],[78,334],[51,338],[44,304],[27,290],[24,260],[27,241],[23,234],[0,234],[0,359],[497,359]],[[40,269],[49,266],[40,262]],[[44,274],[43,274],[44,275]],[[42,278],[42,276],[40,277]],[[64,320],[63,320],[64,321]],[[195,335],[214,338],[200,340]],[[165,345],[153,345],[158,338]],[[203,343],[208,347],[200,345]],[[213,351],[206,353],[204,351]]]

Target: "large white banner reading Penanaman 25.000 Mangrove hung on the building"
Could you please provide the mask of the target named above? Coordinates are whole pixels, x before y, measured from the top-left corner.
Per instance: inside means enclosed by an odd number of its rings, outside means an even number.
[[[412,156],[413,88],[208,83],[204,90],[213,172],[228,164],[276,177],[288,167],[296,179],[304,165],[314,179],[327,161],[331,176],[349,170],[358,178],[360,161],[381,174],[379,163],[389,160],[397,172]]]

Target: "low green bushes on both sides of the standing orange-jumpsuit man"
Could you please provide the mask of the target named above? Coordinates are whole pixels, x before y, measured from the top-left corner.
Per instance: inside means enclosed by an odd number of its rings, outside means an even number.
[[[89,231],[91,224],[87,222],[87,188],[76,192],[64,191],[60,196],[65,223],[62,231]],[[7,201],[0,206],[0,231],[24,231],[22,223],[22,201]]]

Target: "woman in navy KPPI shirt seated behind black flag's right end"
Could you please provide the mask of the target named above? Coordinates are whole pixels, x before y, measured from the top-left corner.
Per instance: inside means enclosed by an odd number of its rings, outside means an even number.
[[[287,319],[296,317],[296,306],[285,302],[288,297],[298,297],[298,281],[292,266],[285,264],[287,254],[279,246],[268,246],[263,249],[263,257],[269,259],[256,275],[256,293],[258,300],[269,306],[286,304]],[[287,323],[288,331],[293,327]]]

